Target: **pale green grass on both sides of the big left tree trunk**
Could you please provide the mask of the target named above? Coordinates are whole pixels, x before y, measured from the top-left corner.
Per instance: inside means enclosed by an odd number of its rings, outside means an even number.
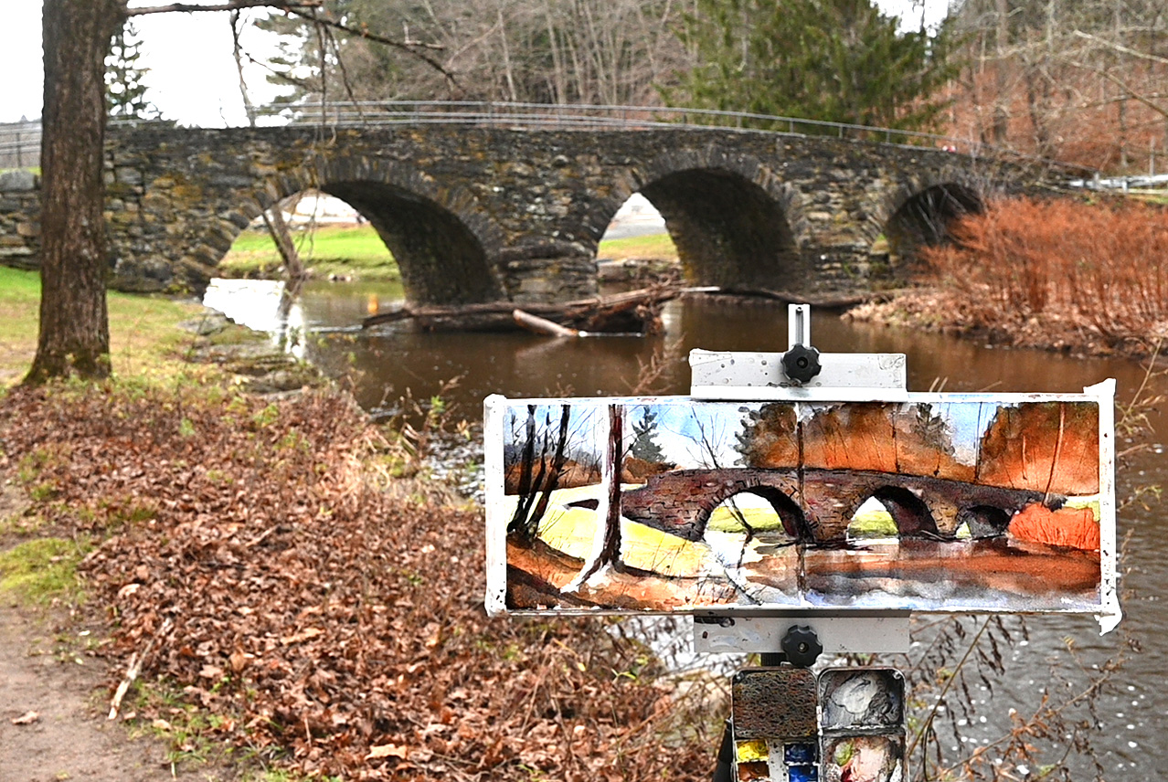
[[[201,313],[201,305],[114,291],[106,300],[116,375],[168,375],[180,368],[176,354],[192,335],[175,326]],[[0,266],[0,387],[20,382],[33,364],[40,302],[40,274]]]

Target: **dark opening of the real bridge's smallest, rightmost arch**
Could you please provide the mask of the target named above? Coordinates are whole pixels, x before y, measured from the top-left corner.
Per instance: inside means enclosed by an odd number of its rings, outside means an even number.
[[[922,247],[953,242],[953,224],[982,211],[985,202],[973,188],[955,182],[934,184],[896,209],[870,253],[911,273],[920,267]]]

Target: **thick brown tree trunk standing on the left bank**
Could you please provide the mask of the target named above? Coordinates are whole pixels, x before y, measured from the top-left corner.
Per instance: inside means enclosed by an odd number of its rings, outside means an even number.
[[[110,373],[105,56],[121,0],[44,0],[41,331],[26,383]]]

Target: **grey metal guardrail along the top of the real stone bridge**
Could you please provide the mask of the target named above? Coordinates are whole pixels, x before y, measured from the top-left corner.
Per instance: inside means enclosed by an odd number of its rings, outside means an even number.
[[[1096,169],[1026,155],[1004,147],[938,133],[871,125],[832,123],[801,117],[780,117],[716,109],[676,106],[618,106],[603,104],[503,103],[488,100],[368,100],[327,104],[269,106],[257,114],[262,126],[324,125],[327,127],[369,127],[384,125],[470,125],[482,127],[569,128],[569,130],[661,130],[686,128],[790,135],[833,135],[872,142],[941,148],[972,158],[1007,156],[1034,165],[1077,172],[1091,176]],[[133,126],[140,120],[111,120],[110,125]],[[23,137],[21,137],[23,134]],[[32,141],[35,134],[35,142]],[[0,168],[5,155],[33,159],[21,166],[35,166],[40,154],[40,123],[0,126]]]

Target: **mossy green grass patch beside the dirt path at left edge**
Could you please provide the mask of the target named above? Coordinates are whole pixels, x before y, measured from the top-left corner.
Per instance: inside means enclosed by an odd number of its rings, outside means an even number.
[[[0,553],[0,592],[32,603],[47,603],[54,598],[79,600],[77,563],[86,550],[86,544],[65,538],[18,544]]]

